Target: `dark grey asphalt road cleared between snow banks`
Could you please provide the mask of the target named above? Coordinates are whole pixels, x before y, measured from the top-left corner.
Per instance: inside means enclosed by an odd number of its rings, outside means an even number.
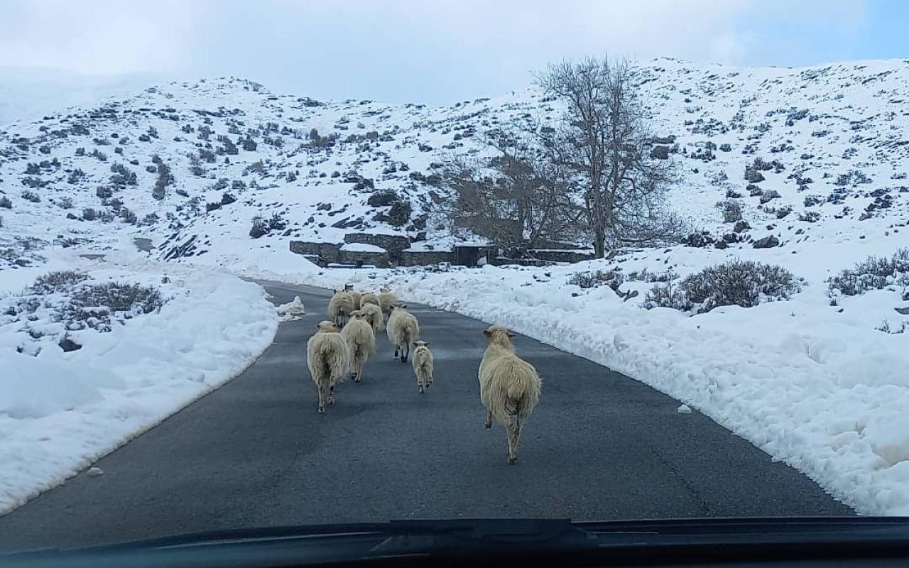
[[[362,384],[316,414],[305,342],[325,291],[266,284],[308,314],[244,374],[55,490],[0,517],[0,549],[223,528],[452,517],[575,520],[853,514],[801,473],[701,414],[600,365],[518,336],[544,377],[520,458],[483,427],[486,324],[411,305],[435,354],[418,394],[385,334]]]

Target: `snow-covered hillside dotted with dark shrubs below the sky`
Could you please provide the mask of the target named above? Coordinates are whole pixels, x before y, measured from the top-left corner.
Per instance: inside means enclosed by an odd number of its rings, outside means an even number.
[[[905,224],[909,62],[658,59],[635,74],[657,151],[679,166],[670,203],[704,231],[688,244],[884,250]],[[445,244],[430,215],[446,195],[438,164],[481,151],[485,130],[558,113],[533,88],[428,107],[275,95],[233,77],[160,85],[0,130],[0,191],[12,205],[0,231],[7,243],[34,239],[33,251],[139,236],[161,258],[263,267],[303,262],[290,239],[369,231]],[[729,207],[745,222],[735,230]],[[255,238],[254,218],[265,231]]]

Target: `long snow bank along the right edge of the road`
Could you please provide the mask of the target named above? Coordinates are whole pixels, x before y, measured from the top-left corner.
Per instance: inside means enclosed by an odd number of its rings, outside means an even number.
[[[581,267],[597,266],[607,267]],[[327,287],[388,284],[406,300],[507,325],[672,395],[859,513],[909,514],[907,336],[874,329],[882,317],[899,317],[898,294],[831,306],[815,281],[790,301],[688,316],[642,309],[643,290],[623,302],[608,286],[566,284],[577,270],[310,268],[284,277]]]

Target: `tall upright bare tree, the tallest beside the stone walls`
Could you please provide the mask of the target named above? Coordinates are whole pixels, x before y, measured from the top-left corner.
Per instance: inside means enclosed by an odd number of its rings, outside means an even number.
[[[653,136],[629,65],[587,58],[550,65],[537,80],[565,104],[561,125],[544,147],[554,164],[574,173],[594,254],[675,236],[680,224],[663,207],[674,181],[671,163],[650,155]]]

